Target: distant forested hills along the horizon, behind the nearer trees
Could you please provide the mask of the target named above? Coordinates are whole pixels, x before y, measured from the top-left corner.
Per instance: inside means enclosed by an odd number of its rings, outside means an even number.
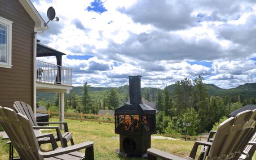
[[[214,84],[205,84],[208,88],[207,92],[210,96],[212,95],[242,95],[244,98],[256,97],[256,83],[245,83],[243,85],[237,86],[235,88],[223,89]],[[174,84],[167,86],[169,89],[169,93],[173,94]],[[102,96],[106,94],[106,92],[114,89],[118,91],[120,99],[122,101],[126,101],[129,95],[129,86],[124,85],[120,87],[89,87],[89,93],[93,98],[102,99]],[[141,88],[141,97],[144,98],[147,95],[150,96],[150,100],[153,101],[156,98],[157,88],[145,87]],[[83,87],[75,86],[71,92],[75,92],[77,95],[83,95]],[[43,100],[47,103],[54,103],[55,93],[37,93],[37,100]]]

